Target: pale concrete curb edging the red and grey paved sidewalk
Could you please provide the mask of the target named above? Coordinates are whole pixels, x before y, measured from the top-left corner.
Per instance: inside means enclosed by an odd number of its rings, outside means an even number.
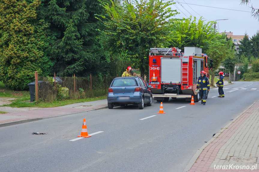
[[[254,102],[254,103],[256,103],[256,102]],[[248,108],[246,108],[243,112],[241,112],[239,115],[237,115],[236,118],[233,119],[233,121],[228,123],[224,128],[222,128],[218,133],[216,133],[215,136],[213,136],[206,144],[204,144],[200,149],[198,149],[197,152],[194,154],[194,156],[191,158],[190,162],[184,168],[183,172],[188,172],[191,169],[191,167],[194,165],[196,160],[199,158],[201,152],[205,149],[205,147],[207,147],[212,141],[214,141],[224,130],[227,129],[227,127],[229,127],[234,121],[236,121],[237,118],[239,118],[250,107],[252,107],[254,105],[254,103],[252,103]]]

